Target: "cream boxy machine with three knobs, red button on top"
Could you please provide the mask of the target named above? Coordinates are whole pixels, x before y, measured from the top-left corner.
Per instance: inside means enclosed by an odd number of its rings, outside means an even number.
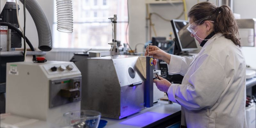
[[[6,113],[55,123],[80,110],[82,76],[73,62],[7,63]]]

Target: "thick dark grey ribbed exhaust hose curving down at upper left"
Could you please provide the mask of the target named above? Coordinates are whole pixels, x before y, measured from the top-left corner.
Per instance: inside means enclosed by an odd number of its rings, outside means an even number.
[[[24,3],[24,0],[20,0]],[[52,50],[52,33],[48,20],[36,0],[26,0],[26,8],[36,24],[38,48],[41,51]]]

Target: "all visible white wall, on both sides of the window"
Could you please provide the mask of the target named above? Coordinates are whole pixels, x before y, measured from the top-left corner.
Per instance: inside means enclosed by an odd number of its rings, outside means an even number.
[[[201,2],[202,0],[200,0]],[[20,2],[20,1],[19,1]],[[55,0],[37,0],[39,5],[42,7],[49,25],[52,30],[53,24],[53,2]],[[187,10],[197,3],[197,0],[186,0]],[[215,0],[209,0],[209,2],[215,3]],[[23,5],[20,4],[20,24],[23,26]],[[255,0],[234,0],[234,13],[241,14],[241,18],[256,18],[256,1]],[[166,19],[174,19],[183,10],[183,4],[155,4],[150,5],[150,12],[157,12]],[[129,24],[129,42],[131,47],[134,49],[138,43],[145,43],[146,39],[146,4],[145,0],[129,0],[129,12],[130,12],[130,24]],[[184,15],[180,18],[184,20]],[[171,23],[159,19],[156,15],[152,15],[152,22],[155,24],[157,36],[168,37],[169,33],[172,32]],[[38,36],[36,26],[32,20],[30,14],[27,11],[26,21],[26,35],[34,47],[38,47]],[[152,32],[152,36],[155,36]],[[23,45],[23,43],[22,43]],[[138,51],[142,51],[142,46],[138,45]],[[247,64],[256,67],[256,59],[252,55],[256,55],[256,47],[243,47],[244,56]]]

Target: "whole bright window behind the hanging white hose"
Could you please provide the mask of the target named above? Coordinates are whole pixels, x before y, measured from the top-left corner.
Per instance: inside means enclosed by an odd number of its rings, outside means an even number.
[[[117,15],[116,39],[125,43],[125,30],[128,23],[127,0],[106,0],[106,5],[97,4],[99,0],[73,1],[73,33],[57,30],[56,2],[54,2],[53,47],[110,49],[112,25],[108,19]],[[108,4],[107,4],[108,2]],[[111,5],[111,6],[110,6]],[[128,39],[127,35],[127,39]]]

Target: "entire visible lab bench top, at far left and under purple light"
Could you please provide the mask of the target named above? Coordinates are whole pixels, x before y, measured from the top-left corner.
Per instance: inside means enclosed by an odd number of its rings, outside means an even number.
[[[151,108],[123,119],[110,119],[104,128],[140,128],[140,127],[168,127],[180,122],[181,106],[177,103],[168,104],[168,101],[158,100]],[[29,119],[12,114],[1,114],[1,123],[16,125],[19,128],[50,128],[50,124],[37,119]]]

